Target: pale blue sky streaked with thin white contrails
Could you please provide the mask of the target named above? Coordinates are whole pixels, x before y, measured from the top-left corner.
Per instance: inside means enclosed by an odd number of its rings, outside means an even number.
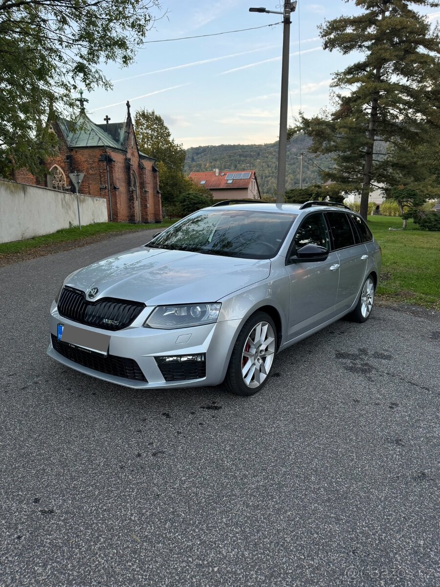
[[[290,25],[289,118],[302,109],[306,116],[329,105],[334,72],[353,62],[322,49],[318,25],[324,19],[354,14],[354,2],[298,0]],[[87,112],[96,123],[108,115],[112,122],[137,109],[155,110],[185,149],[201,145],[273,143],[279,133],[282,25],[281,15],[249,12],[250,6],[280,10],[265,0],[161,0],[153,9],[153,28],[136,60],[121,69],[104,66],[113,89],[96,89]],[[434,24],[440,11],[425,11]],[[209,35],[236,29],[251,31],[181,41],[182,36]]]

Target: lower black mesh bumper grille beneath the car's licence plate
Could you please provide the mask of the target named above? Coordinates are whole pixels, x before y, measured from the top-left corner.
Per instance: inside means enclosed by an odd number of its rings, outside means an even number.
[[[53,334],[50,336],[52,337],[52,346],[56,352],[74,363],[83,365],[83,367],[89,367],[89,369],[95,371],[100,371],[101,373],[123,377],[124,379],[147,381],[139,365],[133,359],[116,357],[114,355],[99,355],[92,351],[79,349],[67,342],[61,342]]]

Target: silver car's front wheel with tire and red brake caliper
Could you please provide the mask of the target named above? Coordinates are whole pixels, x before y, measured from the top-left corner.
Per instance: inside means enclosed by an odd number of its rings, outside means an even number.
[[[252,396],[268,382],[276,352],[275,323],[256,312],[244,323],[232,349],[225,386],[237,396]]]

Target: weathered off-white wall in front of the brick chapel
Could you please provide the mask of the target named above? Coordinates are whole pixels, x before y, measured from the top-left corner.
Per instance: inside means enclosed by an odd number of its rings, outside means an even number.
[[[107,222],[106,198],[79,195],[81,224]],[[78,224],[76,194],[0,180],[0,242],[21,241]]]

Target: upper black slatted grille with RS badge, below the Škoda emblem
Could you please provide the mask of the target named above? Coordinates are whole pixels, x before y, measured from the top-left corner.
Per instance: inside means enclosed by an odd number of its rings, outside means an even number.
[[[144,303],[102,298],[89,302],[79,289],[64,287],[57,303],[60,316],[105,330],[126,328],[145,308]]]

